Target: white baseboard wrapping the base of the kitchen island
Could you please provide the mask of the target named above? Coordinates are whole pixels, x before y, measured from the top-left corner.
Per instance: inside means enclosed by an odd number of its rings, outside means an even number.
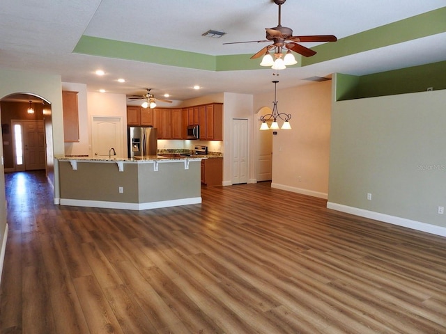
[[[146,203],[127,203],[127,202],[106,202],[102,200],[71,200],[61,198],[61,205],[71,205],[73,207],[101,207],[105,209],[124,209],[124,210],[148,210],[160,207],[177,207],[179,205],[200,204],[200,197],[180,198],[178,200],[162,200],[160,202]]]

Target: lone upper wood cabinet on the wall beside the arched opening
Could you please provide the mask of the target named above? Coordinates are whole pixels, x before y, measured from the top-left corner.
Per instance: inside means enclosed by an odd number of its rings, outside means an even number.
[[[62,91],[63,110],[63,141],[66,143],[79,142],[79,111],[77,106],[77,92]]]

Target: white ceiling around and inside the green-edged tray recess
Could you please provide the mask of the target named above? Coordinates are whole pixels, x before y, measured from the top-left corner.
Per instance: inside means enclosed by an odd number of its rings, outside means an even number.
[[[444,6],[445,0],[288,0],[282,26],[293,35],[340,39]],[[2,0],[0,9],[0,67],[60,74],[63,82],[87,84],[89,91],[136,94],[148,87],[157,97],[170,93],[172,100],[187,100],[221,92],[265,93],[273,89],[273,79],[280,89],[334,72],[361,75],[446,60],[446,33],[287,68],[279,77],[260,66],[213,72],[72,53],[79,38],[90,35],[213,56],[255,54],[268,43],[222,43],[264,40],[265,28],[278,23],[278,6],[271,0]],[[203,37],[208,29],[226,35]],[[93,74],[98,68],[104,77]],[[119,77],[127,82],[119,84]],[[195,84],[203,89],[192,90]]]

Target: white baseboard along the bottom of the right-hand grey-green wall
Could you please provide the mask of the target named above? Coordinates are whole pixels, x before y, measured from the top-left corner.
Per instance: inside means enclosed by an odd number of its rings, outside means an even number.
[[[357,207],[348,207],[337,203],[327,202],[328,209],[333,209],[346,214],[354,214],[355,216],[361,216],[364,218],[371,218],[376,221],[383,221],[384,223],[390,223],[392,225],[403,226],[405,228],[411,228],[426,233],[440,235],[446,237],[446,228],[441,226],[422,223],[420,221],[412,221],[410,219],[390,216],[388,214],[380,214],[379,212],[373,212],[369,210],[359,209]]]

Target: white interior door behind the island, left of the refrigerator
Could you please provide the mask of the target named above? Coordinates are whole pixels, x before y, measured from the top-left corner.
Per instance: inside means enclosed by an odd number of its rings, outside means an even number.
[[[127,157],[127,153],[123,151],[124,140],[121,117],[93,116],[91,125],[93,157],[109,157],[112,148],[116,151],[116,157]]]

